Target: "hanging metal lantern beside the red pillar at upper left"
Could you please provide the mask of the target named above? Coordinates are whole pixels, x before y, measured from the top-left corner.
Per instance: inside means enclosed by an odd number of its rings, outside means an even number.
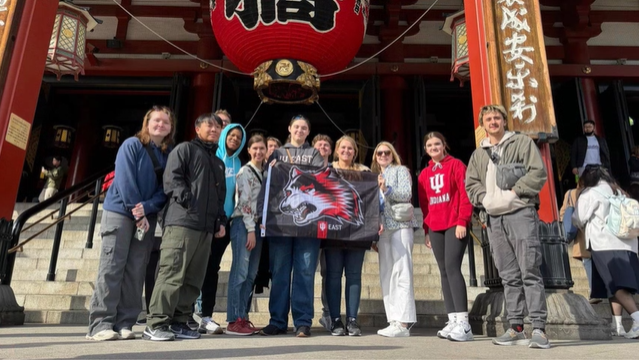
[[[53,24],[49,52],[47,53],[46,71],[57,75],[84,75],[84,57],[86,33],[93,30],[98,21],[89,14],[88,9],[73,5],[68,1],[60,1]]]

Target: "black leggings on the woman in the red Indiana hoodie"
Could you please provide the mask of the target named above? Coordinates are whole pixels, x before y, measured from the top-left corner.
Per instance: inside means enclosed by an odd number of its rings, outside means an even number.
[[[455,228],[456,226],[445,231],[428,231],[433,254],[442,277],[444,305],[448,314],[468,311],[466,281],[461,273],[468,237],[458,239],[455,236]]]

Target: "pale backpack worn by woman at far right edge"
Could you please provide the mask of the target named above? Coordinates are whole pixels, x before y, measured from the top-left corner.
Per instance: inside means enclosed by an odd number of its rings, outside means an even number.
[[[604,196],[610,202],[610,212],[606,216],[606,229],[619,239],[636,239],[639,236],[639,202],[624,194]]]

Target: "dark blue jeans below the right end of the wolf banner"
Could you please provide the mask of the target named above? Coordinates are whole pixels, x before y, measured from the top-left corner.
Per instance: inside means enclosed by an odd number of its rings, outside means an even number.
[[[331,319],[340,317],[342,300],[342,272],[346,275],[346,317],[357,318],[362,296],[362,265],[365,249],[327,248],[326,295]]]

